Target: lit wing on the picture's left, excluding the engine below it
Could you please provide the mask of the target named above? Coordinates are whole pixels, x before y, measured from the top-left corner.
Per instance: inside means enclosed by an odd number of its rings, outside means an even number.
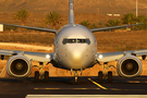
[[[15,51],[15,50],[0,50],[1,56],[15,56],[22,54],[32,61],[50,62],[54,53],[48,52],[29,52],[29,51]]]

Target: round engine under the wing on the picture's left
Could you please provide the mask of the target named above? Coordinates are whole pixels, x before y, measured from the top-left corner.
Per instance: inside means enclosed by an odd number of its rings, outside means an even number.
[[[11,76],[27,77],[32,73],[32,62],[25,56],[14,56],[8,60],[7,72]]]

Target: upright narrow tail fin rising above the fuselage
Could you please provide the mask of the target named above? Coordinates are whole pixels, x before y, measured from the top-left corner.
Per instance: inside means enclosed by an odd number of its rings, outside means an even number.
[[[75,24],[73,1],[74,0],[69,0],[69,24]]]

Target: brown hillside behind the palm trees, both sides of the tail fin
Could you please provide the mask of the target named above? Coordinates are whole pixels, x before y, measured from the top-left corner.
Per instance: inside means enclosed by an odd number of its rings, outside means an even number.
[[[147,16],[146,5],[147,0],[138,0],[139,15]],[[78,24],[88,20],[91,25],[98,25],[98,22],[101,22],[105,26],[108,20],[121,20],[126,13],[135,14],[135,7],[136,0],[74,0],[75,22]],[[62,17],[62,23],[57,26],[57,29],[68,24],[69,0],[0,0],[0,23],[20,25],[21,22],[13,20],[12,16],[22,9],[32,13],[25,24],[27,26],[46,27],[42,22],[51,11],[59,12]],[[107,14],[121,14],[121,16],[108,16]]]

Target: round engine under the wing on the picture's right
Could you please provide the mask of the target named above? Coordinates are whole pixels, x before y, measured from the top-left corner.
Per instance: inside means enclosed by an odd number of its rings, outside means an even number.
[[[124,56],[118,61],[117,71],[120,76],[134,77],[143,72],[140,60],[135,56]]]

